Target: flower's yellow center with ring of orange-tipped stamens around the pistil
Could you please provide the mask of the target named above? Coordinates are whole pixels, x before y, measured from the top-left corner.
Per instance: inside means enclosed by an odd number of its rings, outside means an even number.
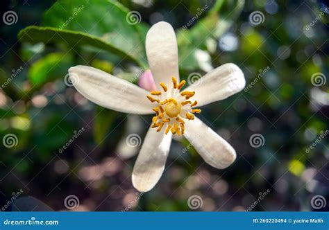
[[[160,83],[162,91],[151,91],[151,95],[147,95],[151,103],[157,105],[153,108],[155,116],[152,118],[153,125],[151,127],[157,128],[157,132],[165,127],[165,134],[171,131],[172,134],[178,136],[185,132],[185,121],[194,120],[194,113],[200,113],[200,109],[194,109],[198,102],[195,100],[192,103],[189,98],[194,96],[194,91],[182,91],[180,89],[185,85],[185,80],[177,82],[176,78],[172,78],[173,89],[168,91],[167,85]],[[165,108],[164,108],[165,107]]]

